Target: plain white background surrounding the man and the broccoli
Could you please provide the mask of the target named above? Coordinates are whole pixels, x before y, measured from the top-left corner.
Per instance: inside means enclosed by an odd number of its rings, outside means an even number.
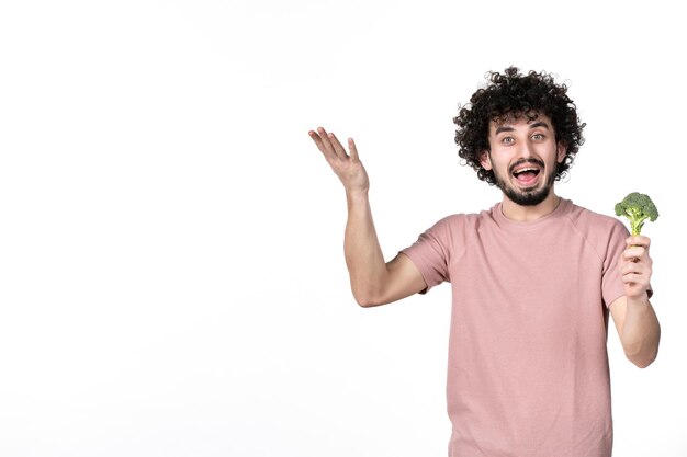
[[[356,138],[391,258],[500,198],[452,117],[517,65],[588,124],[558,193],[662,213],[658,359],[609,338],[615,455],[687,456],[677,4],[3,1],[0,455],[446,455],[450,287],[354,304],[307,130]]]

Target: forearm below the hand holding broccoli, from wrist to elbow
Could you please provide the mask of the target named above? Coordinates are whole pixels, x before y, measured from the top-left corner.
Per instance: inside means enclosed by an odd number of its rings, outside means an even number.
[[[630,298],[620,341],[627,357],[637,366],[649,366],[658,353],[661,325],[649,298]]]

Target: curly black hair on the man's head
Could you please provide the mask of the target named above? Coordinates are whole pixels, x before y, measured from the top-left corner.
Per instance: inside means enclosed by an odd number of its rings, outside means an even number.
[[[489,71],[489,83],[477,90],[470,103],[460,106],[453,118],[458,155],[477,172],[477,178],[489,185],[496,184],[494,171],[485,170],[480,163],[484,151],[489,151],[489,122],[502,122],[522,115],[532,119],[543,114],[551,119],[556,144],[567,147],[565,159],[558,164],[555,180],[560,181],[570,167],[579,146],[584,142],[582,129],[585,124],[577,117],[575,103],[567,96],[567,87],[556,84],[553,76],[530,71],[520,73],[516,67],[508,67],[504,75]]]

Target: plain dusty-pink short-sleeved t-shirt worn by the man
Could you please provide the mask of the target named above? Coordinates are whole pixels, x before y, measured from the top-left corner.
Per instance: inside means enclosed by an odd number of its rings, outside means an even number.
[[[500,204],[449,216],[402,251],[450,282],[450,457],[608,457],[608,306],[628,230],[562,199],[516,222]]]

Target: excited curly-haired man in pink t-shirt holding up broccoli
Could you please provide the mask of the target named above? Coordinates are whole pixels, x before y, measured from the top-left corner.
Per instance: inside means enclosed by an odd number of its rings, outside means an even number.
[[[566,91],[543,72],[489,73],[455,117],[455,141],[503,201],[438,221],[388,263],[356,144],[347,153],[334,134],[309,132],[346,190],[356,300],[384,305],[451,283],[451,457],[610,456],[609,313],[637,366],[658,350],[650,240],[555,194],[583,142]]]

